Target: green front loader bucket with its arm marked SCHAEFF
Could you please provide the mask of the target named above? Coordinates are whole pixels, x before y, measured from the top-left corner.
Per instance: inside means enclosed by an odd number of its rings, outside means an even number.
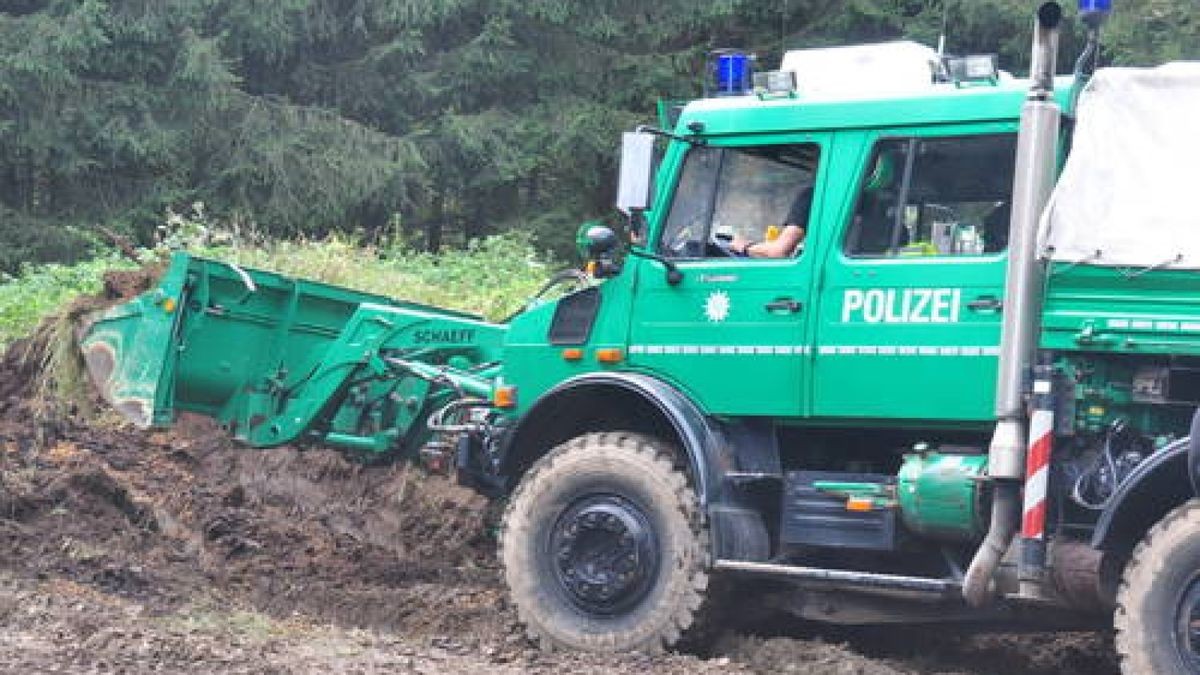
[[[420,446],[433,406],[486,399],[505,328],[176,253],[157,289],[91,317],[94,378],[143,426],[214,417],[256,447]]]

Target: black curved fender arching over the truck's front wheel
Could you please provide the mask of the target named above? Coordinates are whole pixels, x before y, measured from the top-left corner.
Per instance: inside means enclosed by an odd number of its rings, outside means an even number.
[[[511,482],[558,443],[610,424],[620,429],[620,422],[672,435],[667,440],[685,453],[701,504],[720,498],[722,438],[685,394],[638,372],[589,372],[542,394],[509,435],[499,473]]]

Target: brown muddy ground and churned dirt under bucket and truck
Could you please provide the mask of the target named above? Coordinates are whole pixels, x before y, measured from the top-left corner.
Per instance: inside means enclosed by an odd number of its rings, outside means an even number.
[[[119,291],[114,291],[119,294]],[[1098,634],[731,626],[704,653],[544,653],[449,480],[47,407],[0,358],[0,673],[1115,673]],[[40,347],[40,346],[38,346]]]

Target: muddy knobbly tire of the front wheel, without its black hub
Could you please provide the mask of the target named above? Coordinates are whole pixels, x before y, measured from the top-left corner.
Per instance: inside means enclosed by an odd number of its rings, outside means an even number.
[[[542,649],[661,652],[696,631],[706,609],[709,537],[672,448],[632,432],[587,434],[558,446],[523,477],[504,513],[500,561],[517,616]],[[596,616],[556,578],[552,532],[572,503],[613,492],[644,512],[658,573],[637,604]]]

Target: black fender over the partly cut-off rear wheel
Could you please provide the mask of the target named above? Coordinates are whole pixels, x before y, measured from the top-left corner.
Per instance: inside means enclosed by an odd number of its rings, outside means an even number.
[[[1121,483],[1096,522],[1092,548],[1128,552],[1168,512],[1196,496],[1198,424],[1194,417],[1192,436],[1156,452]]]

